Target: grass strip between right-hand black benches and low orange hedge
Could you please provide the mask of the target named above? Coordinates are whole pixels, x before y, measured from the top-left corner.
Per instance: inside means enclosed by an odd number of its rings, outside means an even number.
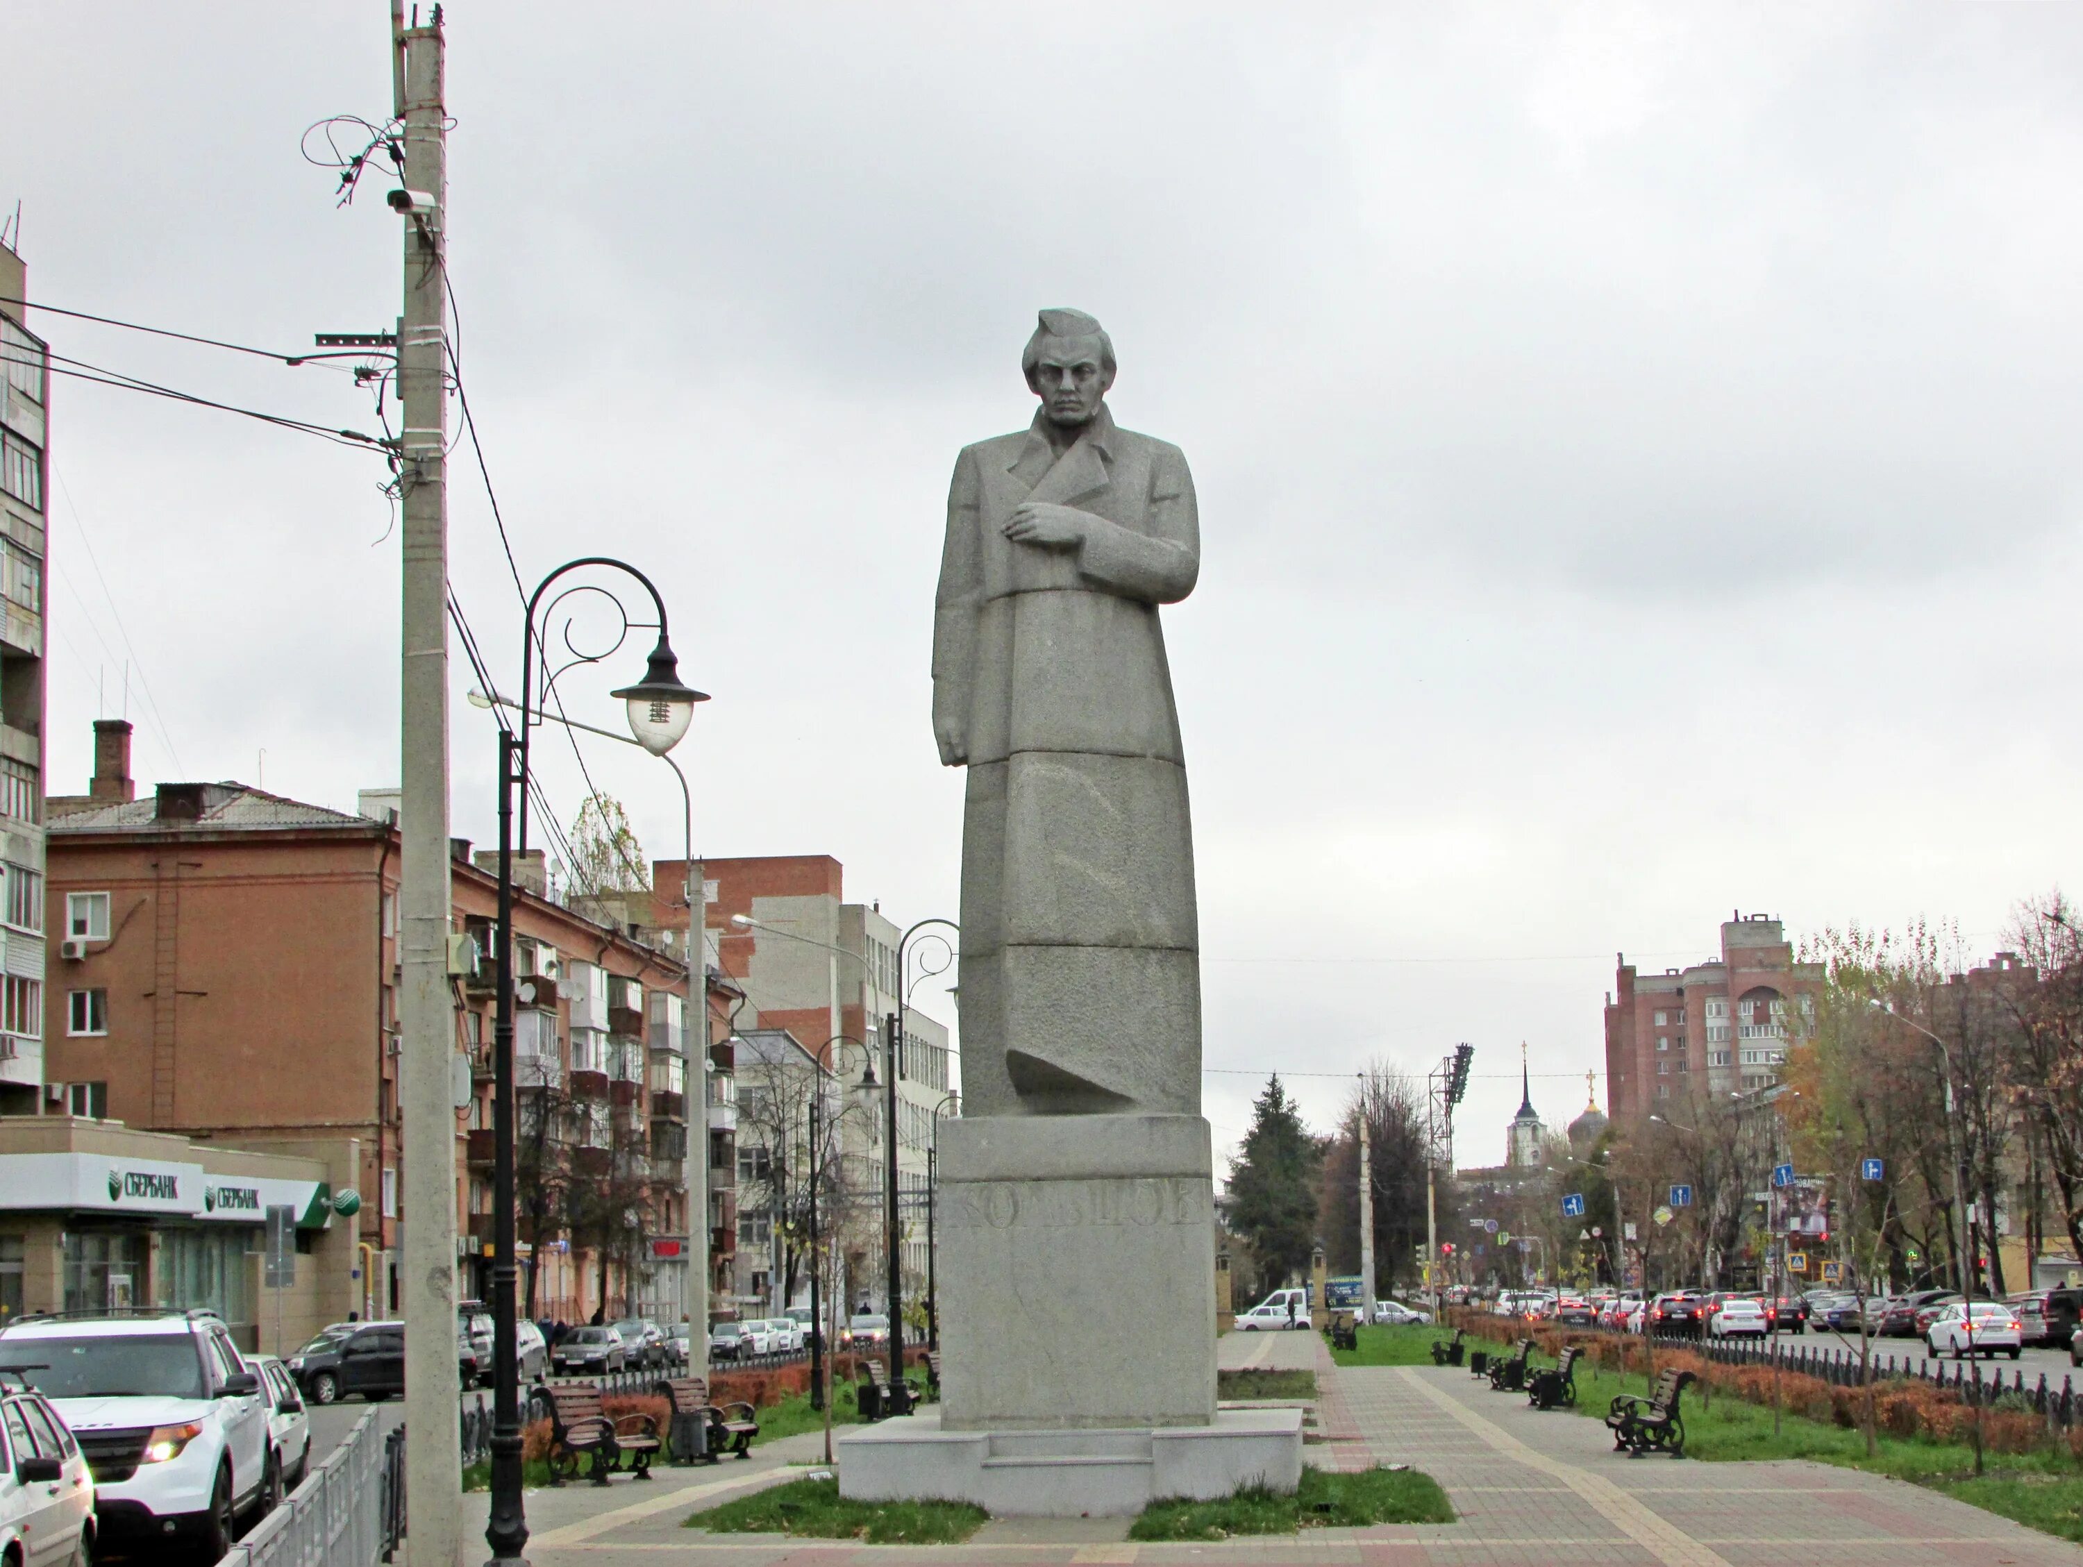
[[[1577,1413],[1606,1417],[1612,1398],[1648,1392],[1648,1377],[1621,1377],[1589,1361],[1577,1363]],[[1781,1411],[1773,1434],[1771,1404],[1750,1404],[1729,1394],[1700,1398],[1698,1384],[1685,1390],[1685,1457],[1702,1463],[1743,1463],[1750,1459],[1812,1459],[1843,1469],[1893,1475],[1931,1486],[1962,1502],[2016,1519],[2033,1529],[2083,1540],[2083,1473],[2060,1452],[1991,1452],[1985,1473],[1975,1477],[1975,1452],[1966,1442],[1918,1442],[1879,1436],[1875,1457],[1866,1457],[1866,1434],[1806,1415]],[[1650,1463],[1652,1459],[1643,1459]]]

